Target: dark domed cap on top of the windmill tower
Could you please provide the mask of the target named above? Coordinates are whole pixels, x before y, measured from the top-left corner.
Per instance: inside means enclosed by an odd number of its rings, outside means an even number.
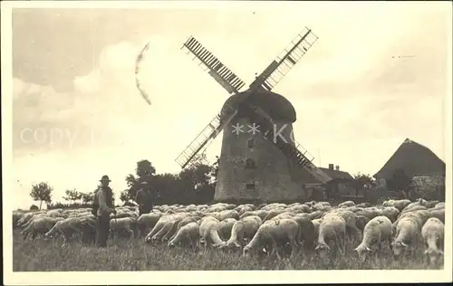
[[[226,111],[228,107],[236,109],[236,100],[241,100],[249,95],[247,101],[255,106],[261,107],[267,114],[273,119],[284,119],[288,123],[293,123],[296,119],[295,110],[293,104],[289,100],[286,100],[283,95],[272,91],[265,91],[260,89],[250,94],[250,91],[243,91],[230,96],[224,106],[222,112]],[[239,110],[238,116],[244,116]]]

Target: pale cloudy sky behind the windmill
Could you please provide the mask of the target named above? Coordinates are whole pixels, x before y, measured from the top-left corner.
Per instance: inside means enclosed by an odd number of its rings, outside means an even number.
[[[296,110],[317,166],[375,174],[410,138],[446,159],[451,7],[443,3],[207,5],[185,9],[14,9],[14,206],[31,186],[119,197],[136,162],[158,173],[214,118],[227,92],[180,50],[195,36],[246,86],[307,26],[319,37],[273,91]],[[140,82],[135,60],[145,43]],[[220,136],[207,155],[218,155]]]

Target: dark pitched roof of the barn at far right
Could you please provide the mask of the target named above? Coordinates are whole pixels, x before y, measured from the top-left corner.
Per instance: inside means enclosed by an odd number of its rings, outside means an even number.
[[[374,176],[390,178],[401,168],[407,176],[419,174],[445,174],[445,163],[429,148],[406,138],[381,170]]]

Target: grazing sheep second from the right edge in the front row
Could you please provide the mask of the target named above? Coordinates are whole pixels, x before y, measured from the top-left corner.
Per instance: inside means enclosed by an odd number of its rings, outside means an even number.
[[[419,221],[416,216],[408,215],[401,218],[395,231],[395,239],[391,243],[395,259],[399,259],[406,253],[409,245],[417,243],[419,240]]]

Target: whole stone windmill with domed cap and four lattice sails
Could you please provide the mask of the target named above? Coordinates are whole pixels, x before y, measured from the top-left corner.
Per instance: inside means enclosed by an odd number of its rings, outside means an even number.
[[[281,201],[300,197],[301,186],[294,183],[293,179],[294,169],[297,168],[295,172],[304,170],[323,184],[331,180],[330,176],[314,166],[312,155],[294,139],[288,140],[288,133],[292,133],[291,123],[295,121],[295,111],[282,95],[272,92],[317,39],[305,27],[242,92],[240,90],[246,83],[193,36],[181,47],[193,54],[193,60],[231,94],[222,110],[175,160],[180,167],[187,167],[223,130],[215,195],[217,201]],[[235,121],[236,126],[233,124]],[[238,134],[239,126],[250,125],[259,127],[259,131],[253,132],[253,137],[245,132]],[[275,131],[281,130],[282,126],[289,126],[286,136],[282,136],[283,132],[276,136]],[[235,131],[236,136],[233,134]]]

